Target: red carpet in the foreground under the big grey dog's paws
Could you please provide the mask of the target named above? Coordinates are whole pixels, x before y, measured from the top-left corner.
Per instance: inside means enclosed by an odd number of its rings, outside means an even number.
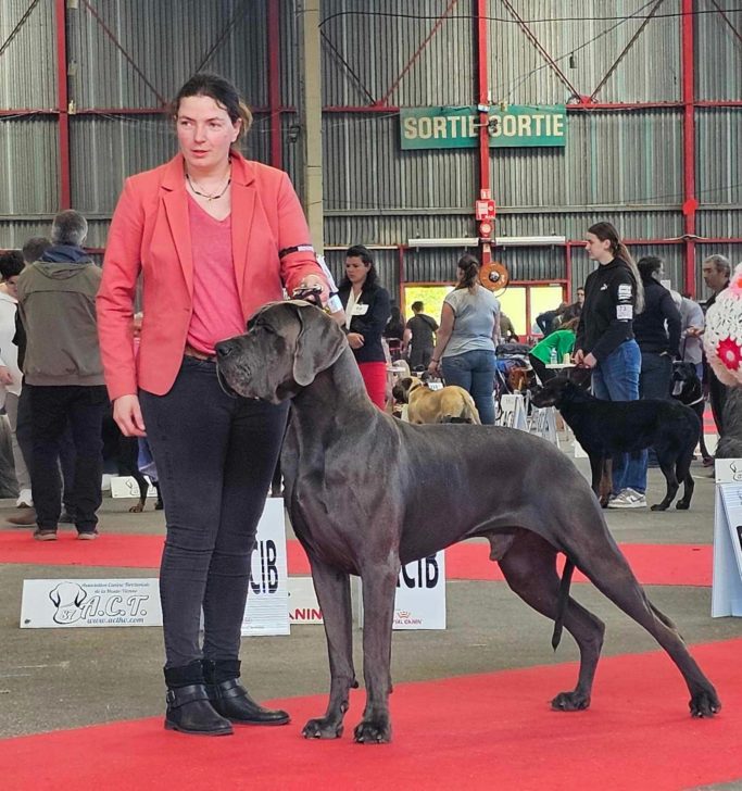
[[[302,739],[326,699],[299,698],[279,702],[291,725],[234,737],[184,737],[156,717],[4,740],[0,771],[13,791],[676,791],[739,780],[742,640],[693,654],[725,705],[710,720],[690,717],[681,677],[654,652],[604,658],[587,712],[550,711],[548,701],[576,675],[575,665],[556,665],[399,685],[390,745],[352,742],[363,707],[356,692],[341,740]]]

